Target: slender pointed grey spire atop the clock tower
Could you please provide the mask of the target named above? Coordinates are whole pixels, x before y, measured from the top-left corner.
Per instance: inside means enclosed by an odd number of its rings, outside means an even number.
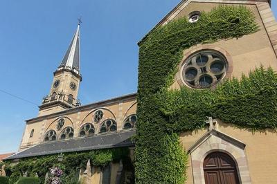
[[[80,24],[78,24],[75,35],[71,40],[69,48],[66,50],[58,70],[62,68],[67,68],[80,74]]]

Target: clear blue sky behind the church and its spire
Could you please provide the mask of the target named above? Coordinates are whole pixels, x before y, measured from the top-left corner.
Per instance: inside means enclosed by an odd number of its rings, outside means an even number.
[[[137,86],[136,43],[180,0],[14,1],[0,6],[0,90],[42,102],[81,15],[82,104],[133,93]],[[272,7],[277,15],[276,1]],[[277,17],[277,16],[276,16]],[[17,151],[34,104],[0,91],[0,154]]]

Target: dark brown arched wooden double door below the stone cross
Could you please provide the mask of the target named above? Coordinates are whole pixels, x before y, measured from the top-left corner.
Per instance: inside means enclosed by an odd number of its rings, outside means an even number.
[[[239,184],[235,161],[228,154],[213,152],[204,159],[206,184]]]

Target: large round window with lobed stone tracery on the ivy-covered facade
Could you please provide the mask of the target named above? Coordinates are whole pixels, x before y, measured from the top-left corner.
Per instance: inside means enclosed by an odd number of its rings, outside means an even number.
[[[184,82],[193,88],[205,89],[220,82],[226,75],[228,63],[215,50],[199,50],[188,57],[181,69]]]

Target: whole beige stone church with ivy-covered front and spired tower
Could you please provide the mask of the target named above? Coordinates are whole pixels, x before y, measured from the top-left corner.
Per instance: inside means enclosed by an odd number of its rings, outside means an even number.
[[[270,6],[182,0],[138,43],[138,93],[84,105],[78,25],[38,116],[26,120],[19,151],[5,161],[126,149],[127,163],[75,165],[78,181],[276,183],[277,77],[270,71],[277,71],[277,23]],[[273,82],[261,87],[262,77]],[[259,101],[264,96],[273,100]]]

